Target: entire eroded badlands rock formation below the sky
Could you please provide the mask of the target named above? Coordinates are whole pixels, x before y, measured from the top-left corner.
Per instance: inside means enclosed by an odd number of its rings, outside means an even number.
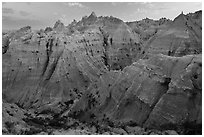
[[[202,134],[202,11],[2,37],[3,134]]]

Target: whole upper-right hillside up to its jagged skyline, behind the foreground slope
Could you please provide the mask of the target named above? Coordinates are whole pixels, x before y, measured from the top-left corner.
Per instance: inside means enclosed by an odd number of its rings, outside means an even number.
[[[159,21],[144,19],[127,24],[143,40],[142,54],[162,53],[168,56],[184,56],[202,52],[202,11],[184,15],[181,13],[173,21],[165,18]]]

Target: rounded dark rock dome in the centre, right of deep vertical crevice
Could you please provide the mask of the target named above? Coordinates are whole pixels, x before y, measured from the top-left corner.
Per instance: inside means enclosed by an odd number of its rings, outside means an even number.
[[[126,24],[119,25],[115,31],[108,34],[107,51],[111,69],[122,70],[138,59],[141,49],[139,37]]]

